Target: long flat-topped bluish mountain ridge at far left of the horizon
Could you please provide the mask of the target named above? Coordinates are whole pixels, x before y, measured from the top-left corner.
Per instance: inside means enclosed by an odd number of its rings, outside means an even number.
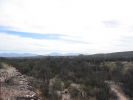
[[[37,54],[30,54],[30,53],[23,53],[23,54],[18,54],[18,53],[1,53],[0,57],[33,57],[37,56]]]

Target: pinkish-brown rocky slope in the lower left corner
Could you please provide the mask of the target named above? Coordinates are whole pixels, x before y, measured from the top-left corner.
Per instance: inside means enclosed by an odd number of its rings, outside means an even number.
[[[40,97],[32,91],[26,78],[14,67],[2,63],[0,69],[0,96],[2,100],[41,100]]]

